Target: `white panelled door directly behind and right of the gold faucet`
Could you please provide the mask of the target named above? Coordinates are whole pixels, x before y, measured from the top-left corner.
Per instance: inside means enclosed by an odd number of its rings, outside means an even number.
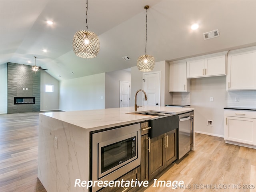
[[[148,100],[144,101],[144,105],[160,106],[160,72],[145,73],[143,79],[143,89],[148,97]]]

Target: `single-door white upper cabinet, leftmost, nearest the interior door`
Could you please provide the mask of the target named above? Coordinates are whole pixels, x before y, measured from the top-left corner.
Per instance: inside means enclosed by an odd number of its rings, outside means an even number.
[[[187,79],[186,67],[185,60],[170,62],[169,92],[189,91],[190,81]]]

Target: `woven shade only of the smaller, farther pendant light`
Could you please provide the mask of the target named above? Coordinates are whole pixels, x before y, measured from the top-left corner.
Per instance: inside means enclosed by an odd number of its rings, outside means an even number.
[[[151,71],[155,65],[155,58],[152,55],[142,55],[137,60],[138,70],[146,72]]]

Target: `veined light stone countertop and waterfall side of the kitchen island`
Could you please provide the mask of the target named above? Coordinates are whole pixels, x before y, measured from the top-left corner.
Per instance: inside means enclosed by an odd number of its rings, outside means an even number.
[[[144,106],[138,112],[182,114],[192,108]],[[47,192],[86,192],[76,179],[90,179],[90,132],[150,120],[134,107],[50,112],[39,115],[38,178]]]

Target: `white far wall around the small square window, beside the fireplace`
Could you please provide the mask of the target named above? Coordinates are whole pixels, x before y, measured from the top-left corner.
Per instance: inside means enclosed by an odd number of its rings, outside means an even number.
[[[59,109],[59,81],[44,70],[40,71],[41,90],[40,90],[40,111]],[[54,86],[54,92],[45,92],[45,84]]]

